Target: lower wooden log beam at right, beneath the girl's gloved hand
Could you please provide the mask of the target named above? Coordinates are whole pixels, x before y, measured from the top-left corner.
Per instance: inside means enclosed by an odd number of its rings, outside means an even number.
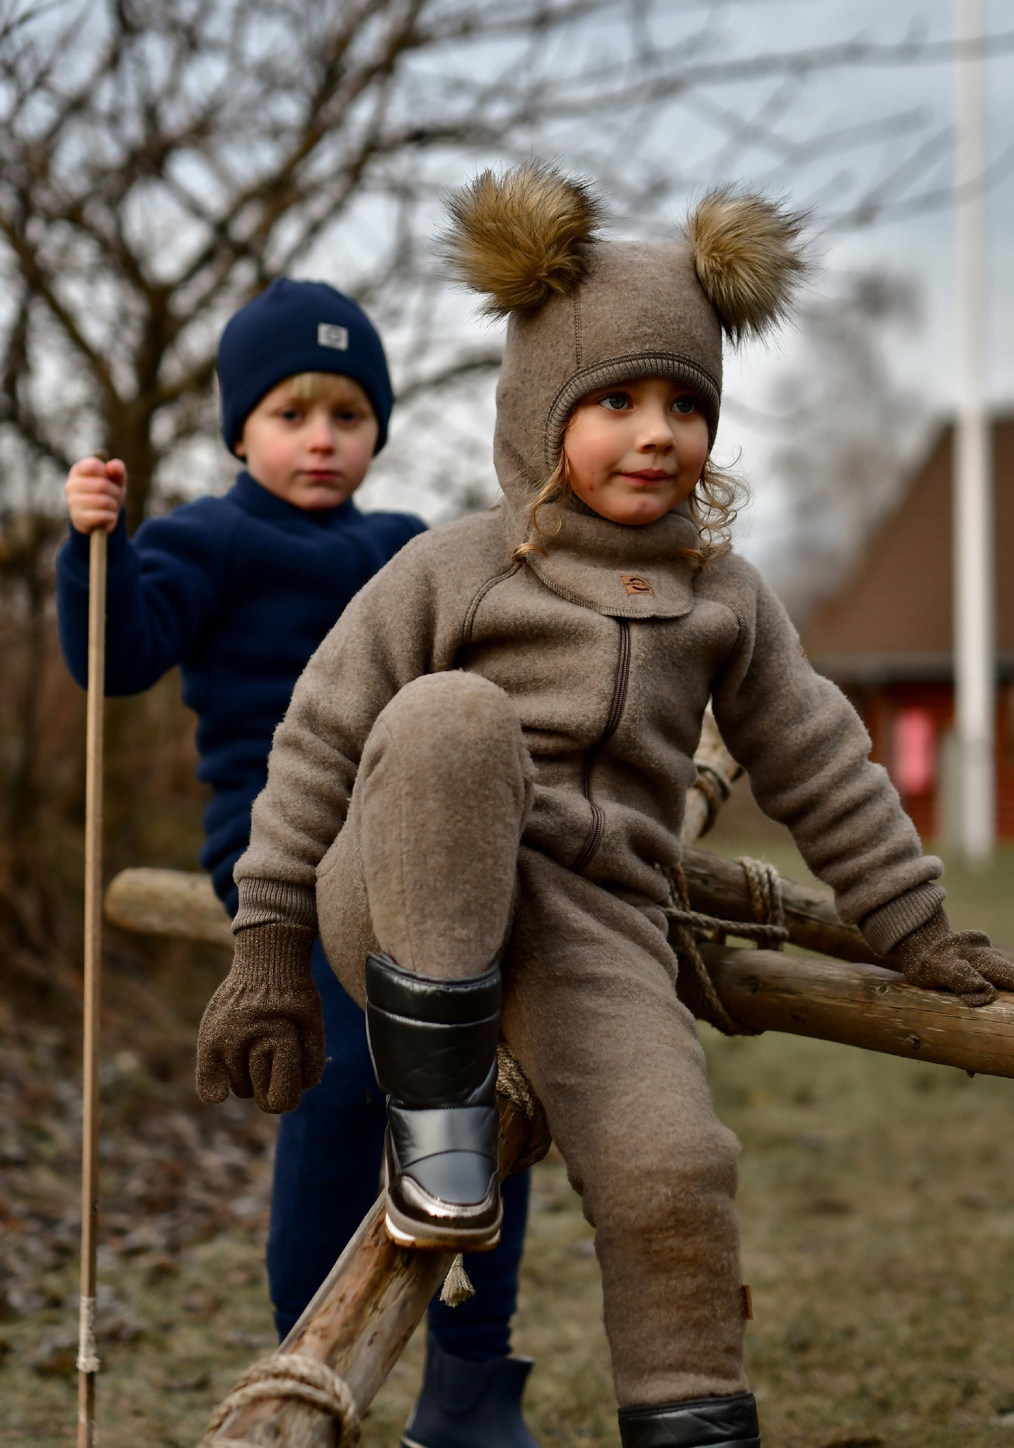
[[[724,946],[701,946],[701,956],[743,1025],[1014,1077],[1014,993],[969,1006],[884,966]]]

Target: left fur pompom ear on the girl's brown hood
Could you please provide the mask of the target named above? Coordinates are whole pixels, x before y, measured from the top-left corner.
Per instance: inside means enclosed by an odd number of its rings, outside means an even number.
[[[603,207],[590,187],[545,161],[503,175],[482,171],[448,201],[443,255],[458,279],[506,317],[574,291],[585,274],[582,242],[597,239]]]

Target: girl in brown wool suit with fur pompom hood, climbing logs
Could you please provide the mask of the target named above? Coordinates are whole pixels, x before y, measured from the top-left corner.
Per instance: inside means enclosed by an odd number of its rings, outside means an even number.
[[[503,1032],[595,1229],[624,1448],[755,1448],[737,1144],[662,909],[708,696],[875,951],[972,1003],[1014,967],[950,931],[940,862],[862,723],[721,540],[723,332],[785,314],[800,219],[716,193],[681,240],[607,242],[585,187],[540,164],[481,175],[451,211],[459,275],[510,319],[504,497],[411,542],[300,679],[198,1086],[285,1111],[316,1080],[319,930],[390,1096],[388,1231],[475,1250],[500,1224]]]

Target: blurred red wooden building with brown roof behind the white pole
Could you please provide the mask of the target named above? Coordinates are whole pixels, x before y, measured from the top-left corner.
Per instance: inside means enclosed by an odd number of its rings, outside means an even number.
[[[994,423],[997,833],[1014,840],[1014,417]],[[803,630],[924,840],[953,837],[952,446],[944,427],[852,576]]]

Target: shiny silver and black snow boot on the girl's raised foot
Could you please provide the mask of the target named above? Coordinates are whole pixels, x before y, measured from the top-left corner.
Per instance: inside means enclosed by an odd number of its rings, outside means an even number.
[[[366,1035],[387,1093],[387,1231],[400,1247],[500,1241],[500,966],[445,980],[366,956]]]

